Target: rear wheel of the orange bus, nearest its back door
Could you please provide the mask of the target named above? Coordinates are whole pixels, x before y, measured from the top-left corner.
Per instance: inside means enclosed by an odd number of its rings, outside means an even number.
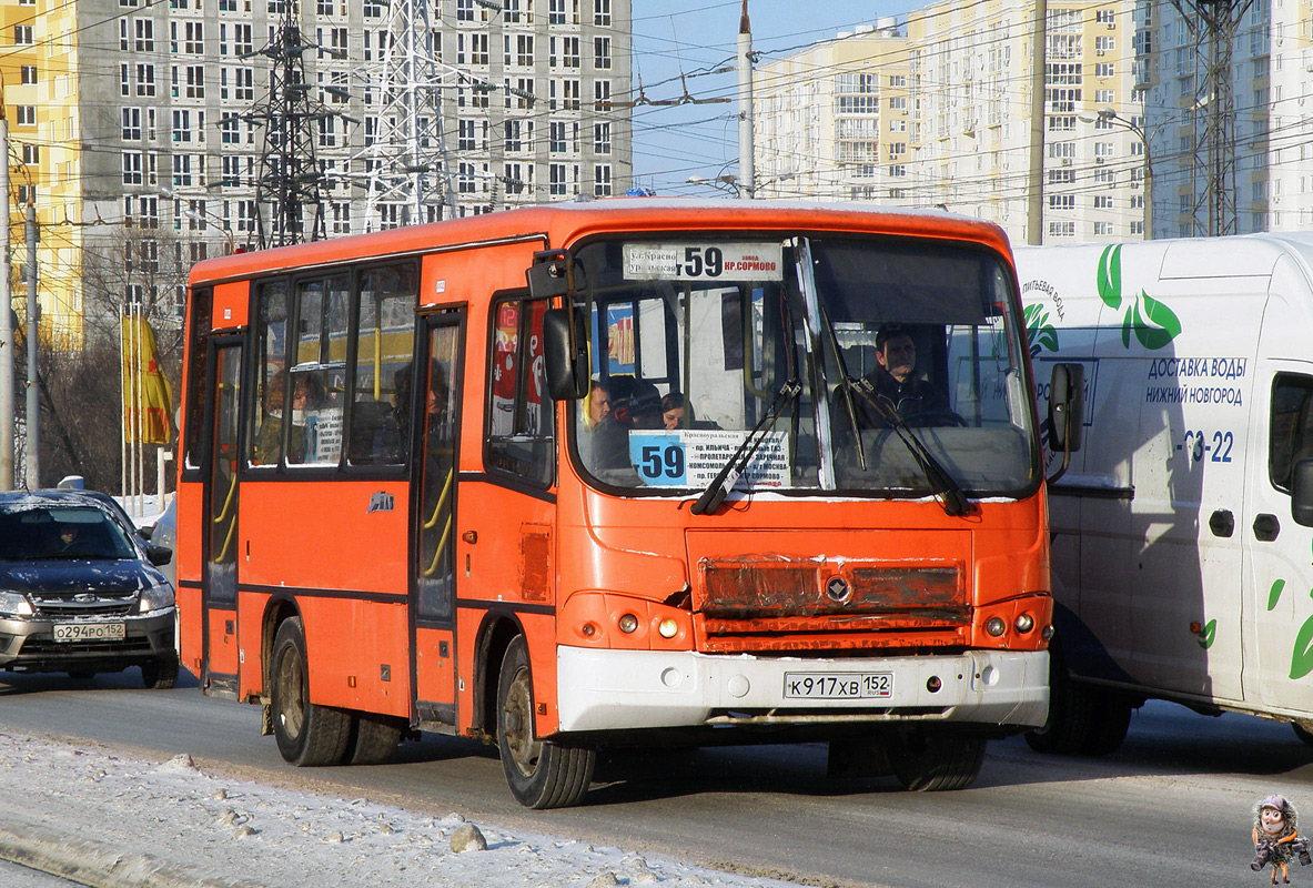
[[[289,617],[278,627],[269,677],[273,736],[282,758],[299,767],[340,762],[351,740],[351,716],[310,701],[301,617]]]

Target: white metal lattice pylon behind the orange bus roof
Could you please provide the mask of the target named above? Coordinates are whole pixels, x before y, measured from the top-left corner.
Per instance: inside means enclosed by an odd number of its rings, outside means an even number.
[[[378,116],[366,121],[365,150],[358,155],[368,188],[360,227],[366,231],[433,222],[456,208],[442,137],[442,89],[470,78],[437,60],[442,34],[432,26],[429,1],[389,4],[386,45],[365,72],[366,89],[381,100]]]

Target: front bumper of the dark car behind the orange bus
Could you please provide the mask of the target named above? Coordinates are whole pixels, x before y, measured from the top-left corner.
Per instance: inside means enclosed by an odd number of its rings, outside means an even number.
[[[0,669],[29,673],[104,671],[139,666],[173,653],[176,608],[146,616],[100,620],[123,623],[125,637],[113,641],[55,641],[55,624],[71,620],[0,617]]]

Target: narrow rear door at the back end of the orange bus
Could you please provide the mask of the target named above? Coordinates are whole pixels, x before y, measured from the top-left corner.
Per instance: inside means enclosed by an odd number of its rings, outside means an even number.
[[[210,465],[205,478],[205,575],[201,587],[201,688],[238,696],[238,406],[242,345],[217,340],[210,366]]]

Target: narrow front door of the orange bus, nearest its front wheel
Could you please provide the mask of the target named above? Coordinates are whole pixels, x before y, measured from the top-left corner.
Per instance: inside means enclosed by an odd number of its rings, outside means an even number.
[[[463,313],[428,321],[418,356],[411,669],[421,720],[456,725],[456,497]]]

